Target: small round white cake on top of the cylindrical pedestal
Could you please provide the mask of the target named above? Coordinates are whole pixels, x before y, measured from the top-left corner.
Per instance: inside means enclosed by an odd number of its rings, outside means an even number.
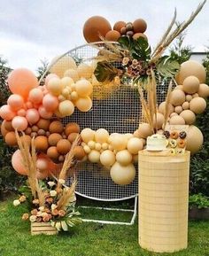
[[[166,136],[159,134],[149,136],[147,138],[146,149],[148,151],[165,151],[167,146]]]

